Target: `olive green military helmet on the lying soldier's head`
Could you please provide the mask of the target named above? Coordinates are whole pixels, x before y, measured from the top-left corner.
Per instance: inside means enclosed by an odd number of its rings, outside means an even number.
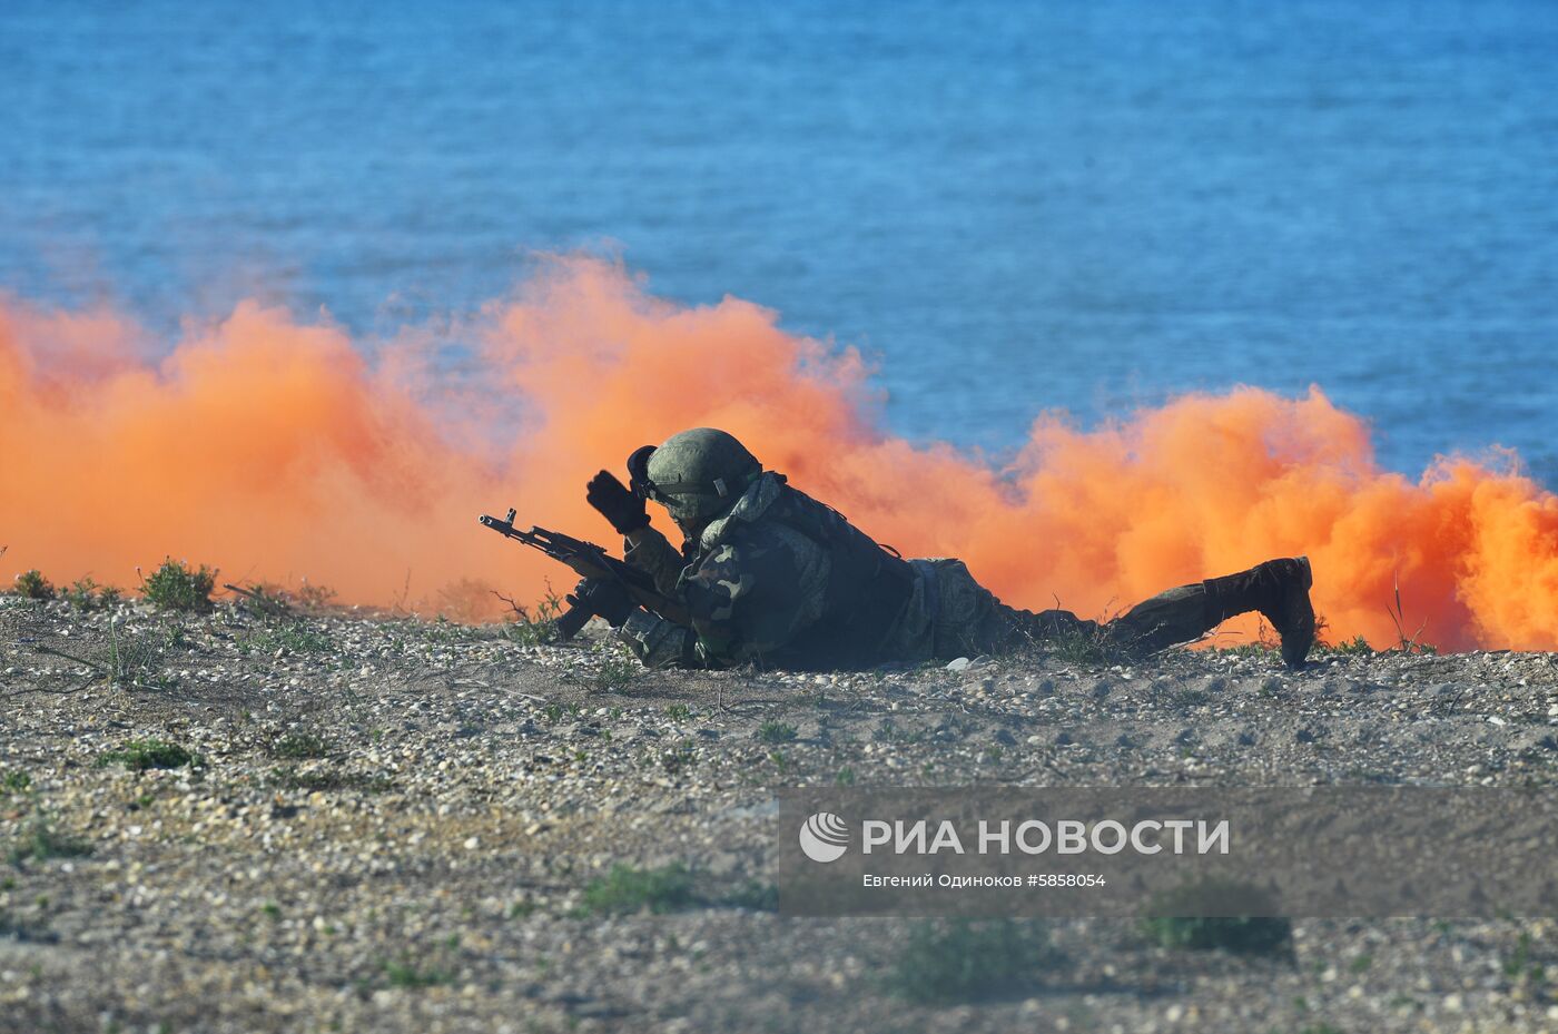
[[[643,494],[662,503],[679,525],[714,520],[763,472],[746,445],[712,427],[671,434],[640,464]]]

